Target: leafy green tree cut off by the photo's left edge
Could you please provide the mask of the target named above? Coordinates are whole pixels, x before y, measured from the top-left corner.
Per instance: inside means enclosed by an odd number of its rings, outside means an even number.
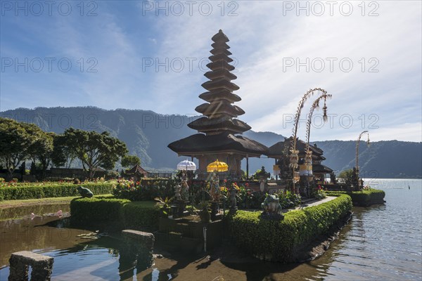
[[[13,171],[20,162],[32,155],[36,136],[32,136],[30,132],[36,131],[34,126],[0,117],[0,159],[8,171],[9,181],[13,178]]]

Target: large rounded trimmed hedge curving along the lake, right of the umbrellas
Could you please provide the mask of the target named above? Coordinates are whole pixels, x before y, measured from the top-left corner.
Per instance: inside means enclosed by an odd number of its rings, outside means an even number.
[[[340,195],[314,207],[289,211],[283,221],[261,220],[260,211],[237,211],[228,217],[229,233],[238,247],[255,256],[292,262],[302,247],[326,234],[351,209],[350,196]]]

